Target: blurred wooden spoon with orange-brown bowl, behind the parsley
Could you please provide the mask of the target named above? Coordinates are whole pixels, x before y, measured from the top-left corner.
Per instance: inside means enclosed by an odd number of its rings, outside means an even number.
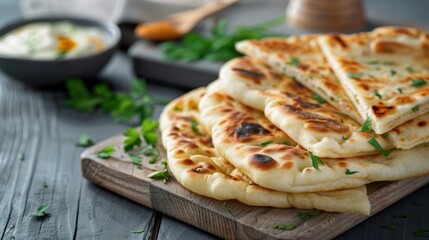
[[[138,37],[154,41],[173,40],[190,32],[195,25],[205,17],[225,9],[239,0],[218,0],[200,7],[179,12],[166,17],[164,20],[141,23],[137,25],[135,34]]]

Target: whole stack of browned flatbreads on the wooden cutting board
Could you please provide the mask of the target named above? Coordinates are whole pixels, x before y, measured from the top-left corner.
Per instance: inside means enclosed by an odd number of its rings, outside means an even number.
[[[176,179],[255,206],[370,213],[365,185],[429,174],[429,34],[248,40],[161,115]]]

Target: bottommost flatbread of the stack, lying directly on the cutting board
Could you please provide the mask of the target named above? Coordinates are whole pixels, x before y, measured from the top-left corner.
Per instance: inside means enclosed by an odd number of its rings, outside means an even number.
[[[167,150],[169,168],[184,187],[218,200],[237,199],[254,206],[369,214],[365,187],[322,193],[286,193],[254,184],[216,154],[210,135],[201,125],[192,130],[192,121],[201,123],[197,103],[204,92],[204,88],[197,89],[174,100],[161,114],[162,142]]]

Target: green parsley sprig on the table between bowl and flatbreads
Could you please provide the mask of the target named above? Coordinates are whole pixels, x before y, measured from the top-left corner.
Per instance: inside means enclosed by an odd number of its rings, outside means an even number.
[[[150,96],[143,79],[134,79],[127,93],[113,92],[105,83],[96,84],[91,91],[80,79],[69,79],[66,88],[69,96],[64,101],[66,107],[82,112],[94,112],[101,108],[115,122],[131,121],[135,117],[139,117],[140,121],[151,118],[156,105],[167,103]]]

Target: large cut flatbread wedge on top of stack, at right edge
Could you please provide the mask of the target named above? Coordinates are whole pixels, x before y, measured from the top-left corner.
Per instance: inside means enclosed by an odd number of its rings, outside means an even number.
[[[381,27],[327,35],[320,46],[363,118],[383,134],[429,112],[429,35]]]

